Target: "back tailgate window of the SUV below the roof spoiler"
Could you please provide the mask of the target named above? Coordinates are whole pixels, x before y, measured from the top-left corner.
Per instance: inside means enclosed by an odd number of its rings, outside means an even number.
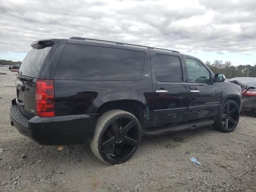
[[[32,49],[22,61],[19,73],[24,76],[37,78],[39,70],[51,47]]]

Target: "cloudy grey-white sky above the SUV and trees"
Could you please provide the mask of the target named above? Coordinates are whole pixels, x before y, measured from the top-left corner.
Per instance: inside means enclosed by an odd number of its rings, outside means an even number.
[[[39,39],[80,36],[256,64],[256,0],[1,0],[0,59]]]

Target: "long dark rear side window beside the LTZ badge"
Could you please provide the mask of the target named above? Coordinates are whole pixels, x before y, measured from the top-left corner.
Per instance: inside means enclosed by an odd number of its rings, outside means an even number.
[[[66,44],[55,79],[136,81],[144,61],[140,51]]]

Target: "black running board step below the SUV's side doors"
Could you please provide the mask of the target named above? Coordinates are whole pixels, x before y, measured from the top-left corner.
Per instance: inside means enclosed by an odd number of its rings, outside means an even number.
[[[170,132],[195,129],[198,127],[209,126],[209,125],[212,125],[213,123],[214,123],[214,120],[207,120],[207,121],[200,121],[200,122],[184,123],[184,124],[171,126],[171,127],[152,128],[148,131],[145,131],[144,136],[157,136],[162,134],[168,134]]]

